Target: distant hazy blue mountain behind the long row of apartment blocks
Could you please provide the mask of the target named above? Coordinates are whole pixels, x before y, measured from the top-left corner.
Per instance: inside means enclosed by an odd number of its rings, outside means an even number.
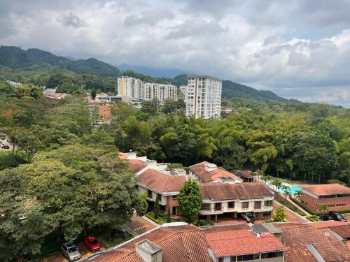
[[[148,68],[144,66],[128,66],[127,64],[120,64],[118,68],[124,71],[132,70],[144,75],[150,75],[153,78],[174,78],[176,75],[188,73],[186,71],[173,68]]]

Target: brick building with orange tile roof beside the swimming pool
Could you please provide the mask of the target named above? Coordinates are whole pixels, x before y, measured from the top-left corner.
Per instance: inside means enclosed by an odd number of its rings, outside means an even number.
[[[350,210],[350,188],[341,184],[302,184],[301,202],[313,212],[318,205],[326,205],[329,211]]]

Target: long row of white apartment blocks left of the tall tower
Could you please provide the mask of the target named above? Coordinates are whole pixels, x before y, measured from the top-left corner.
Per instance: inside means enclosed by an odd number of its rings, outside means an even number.
[[[177,101],[177,87],[176,85],[144,82],[137,78],[122,76],[118,78],[118,95],[144,101],[153,99]]]

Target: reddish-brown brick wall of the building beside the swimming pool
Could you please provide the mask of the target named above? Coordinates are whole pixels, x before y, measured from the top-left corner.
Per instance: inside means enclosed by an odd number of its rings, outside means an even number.
[[[329,211],[342,211],[350,210],[350,197],[340,197],[340,198],[316,198],[316,196],[310,196],[303,191],[302,194],[302,204],[305,205],[313,212],[319,212],[317,205],[328,205]]]

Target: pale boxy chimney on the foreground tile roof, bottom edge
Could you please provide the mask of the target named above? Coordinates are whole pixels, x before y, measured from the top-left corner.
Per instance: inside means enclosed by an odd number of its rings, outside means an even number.
[[[150,240],[142,240],[136,245],[136,252],[145,262],[162,262],[162,247]]]

